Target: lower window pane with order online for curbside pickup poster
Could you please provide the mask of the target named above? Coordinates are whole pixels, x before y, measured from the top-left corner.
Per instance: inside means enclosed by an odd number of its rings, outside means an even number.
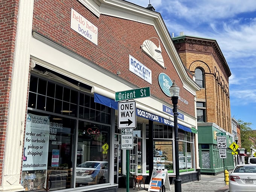
[[[73,119],[27,114],[21,178],[25,190],[71,187],[75,126]]]

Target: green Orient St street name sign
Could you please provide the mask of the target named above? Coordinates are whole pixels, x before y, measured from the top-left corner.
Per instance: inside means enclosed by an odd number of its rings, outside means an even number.
[[[145,97],[150,97],[149,87],[116,92],[115,101],[123,101]]]

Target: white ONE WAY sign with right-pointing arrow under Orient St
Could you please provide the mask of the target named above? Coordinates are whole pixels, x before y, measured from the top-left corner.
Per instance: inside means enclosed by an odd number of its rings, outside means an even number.
[[[118,103],[118,128],[136,128],[136,102]]]

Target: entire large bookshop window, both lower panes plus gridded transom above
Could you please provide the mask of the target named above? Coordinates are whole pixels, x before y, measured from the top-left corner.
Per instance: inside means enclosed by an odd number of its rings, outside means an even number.
[[[31,76],[21,176],[25,190],[108,183],[110,124],[111,109],[94,103],[93,96]]]

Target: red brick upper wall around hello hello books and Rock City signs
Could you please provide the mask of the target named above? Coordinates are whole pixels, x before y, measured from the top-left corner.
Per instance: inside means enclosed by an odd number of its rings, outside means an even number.
[[[98,46],[70,28],[71,8],[98,27]],[[158,37],[153,26],[107,15],[100,15],[98,18],[78,1],[44,0],[34,2],[33,30],[114,74],[117,70],[120,71],[119,77],[138,87],[150,87],[152,95],[171,104],[170,98],[158,85],[159,73],[166,73],[172,80],[175,79],[181,87],[180,96],[189,102],[189,105],[179,102],[179,110],[194,116],[194,97],[182,88],[181,80],[162,43],[162,56],[166,69],[140,49],[143,41]],[[152,41],[154,42],[154,39]],[[129,71],[129,54],[152,71],[152,85]]]

